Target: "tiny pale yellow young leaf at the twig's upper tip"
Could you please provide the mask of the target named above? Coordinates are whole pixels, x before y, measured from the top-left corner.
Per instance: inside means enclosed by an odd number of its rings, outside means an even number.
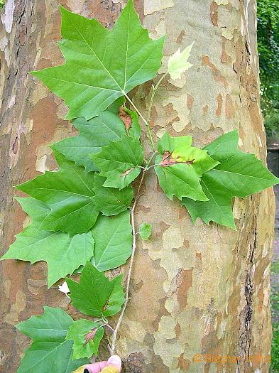
[[[188,58],[190,57],[193,44],[188,45],[182,52],[178,49],[170,56],[168,60],[168,73],[173,80],[181,79],[182,73],[192,67],[192,64],[188,62]]]

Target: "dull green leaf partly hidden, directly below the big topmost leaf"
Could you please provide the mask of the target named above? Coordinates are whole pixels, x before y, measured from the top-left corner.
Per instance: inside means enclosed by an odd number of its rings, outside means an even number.
[[[98,153],[109,141],[120,140],[126,134],[123,121],[108,111],[89,121],[77,118],[72,124],[80,131],[80,135],[58,141],[51,148],[75,161],[77,165],[84,166],[87,171],[99,171],[89,154]]]

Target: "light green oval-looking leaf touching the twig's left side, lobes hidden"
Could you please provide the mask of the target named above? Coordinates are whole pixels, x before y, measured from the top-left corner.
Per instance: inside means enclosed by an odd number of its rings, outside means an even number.
[[[99,216],[92,228],[92,237],[95,244],[91,261],[98,271],[121,266],[131,256],[130,212],[121,212],[115,217]]]

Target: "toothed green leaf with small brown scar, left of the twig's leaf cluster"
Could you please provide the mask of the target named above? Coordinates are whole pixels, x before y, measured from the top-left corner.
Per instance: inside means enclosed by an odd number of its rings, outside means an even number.
[[[106,178],[104,186],[122,189],[141,172],[143,148],[138,139],[122,136],[120,141],[111,141],[91,158],[101,170],[100,175]]]

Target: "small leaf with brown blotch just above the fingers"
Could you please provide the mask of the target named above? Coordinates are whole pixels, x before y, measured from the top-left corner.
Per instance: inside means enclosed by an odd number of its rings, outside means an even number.
[[[92,357],[98,355],[99,343],[104,335],[104,328],[98,323],[80,318],[70,326],[66,340],[73,340],[72,358]]]

